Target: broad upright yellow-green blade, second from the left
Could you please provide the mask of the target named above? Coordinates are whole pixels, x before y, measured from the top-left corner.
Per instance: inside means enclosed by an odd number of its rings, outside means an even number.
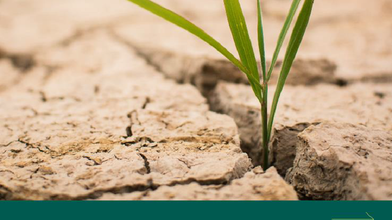
[[[260,85],[259,71],[240,2],[239,0],[223,0],[223,2],[227,21],[229,22],[231,34],[233,35],[241,62],[249,69],[251,75],[251,77],[248,77],[249,83],[256,97],[261,102],[261,88],[258,87]]]

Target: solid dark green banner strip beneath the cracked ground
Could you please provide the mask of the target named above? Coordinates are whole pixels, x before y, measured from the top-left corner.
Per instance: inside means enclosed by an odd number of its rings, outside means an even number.
[[[1,201],[4,220],[391,220],[390,201]]]

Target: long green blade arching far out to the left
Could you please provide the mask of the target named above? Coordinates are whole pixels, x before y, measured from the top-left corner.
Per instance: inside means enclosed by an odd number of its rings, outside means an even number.
[[[251,74],[251,71],[248,67],[243,65],[233,54],[231,54],[224,46],[222,46],[219,42],[217,42],[213,37],[208,35],[205,31],[201,28],[197,27],[192,22],[189,22],[182,16],[172,12],[169,9],[162,7],[161,5],[154,3],[150,0],[128,0],[131,1],[140,7],[150,11],[151,13],[176,24],[179,27],[189,31],[190,33],[196,35],[201,40],[205,41],[206,43],[213,46],[216,50],[218,50],[223,56],[225,56],[231,63],[237,66],[241,71],[243,71],[247,78],[249,79],[250,84],[254,91],[260,91],[261,85],[259,82],[259,78],[255,77],[254,74]],[[253,50],[252,50],[253,52]],[[256,66],[257,67],[257,66]],[[260,93],[260,92],[259,92]],[[260,95],[258,96],[258,98]],[[259,99],[260,100],[260,99]]]

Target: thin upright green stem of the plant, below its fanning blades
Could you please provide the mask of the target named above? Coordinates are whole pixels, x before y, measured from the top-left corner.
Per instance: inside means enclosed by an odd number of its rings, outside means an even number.
[[[270,165],[269,165],[269,159],[268,156],[270,154],[268,145],[269,145],[269,138],[268,138],[268,117],[267,117],[267,101],[268,101],[268,85],[267,81],[264,81],[264,90],[263,90],[263,101],[261,103],[261,122],[262,122],[262,146],[263,146],[263,169],[267,170]]]

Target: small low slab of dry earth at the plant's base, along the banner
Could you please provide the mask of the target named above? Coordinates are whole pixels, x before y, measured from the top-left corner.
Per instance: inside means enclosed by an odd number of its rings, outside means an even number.
[[[202,186],[197,183],[161,186],[155,191],[104,194],[100,200],[297,200],[297,195],[275,168],[260,167],[233,180],[230,185]]]

